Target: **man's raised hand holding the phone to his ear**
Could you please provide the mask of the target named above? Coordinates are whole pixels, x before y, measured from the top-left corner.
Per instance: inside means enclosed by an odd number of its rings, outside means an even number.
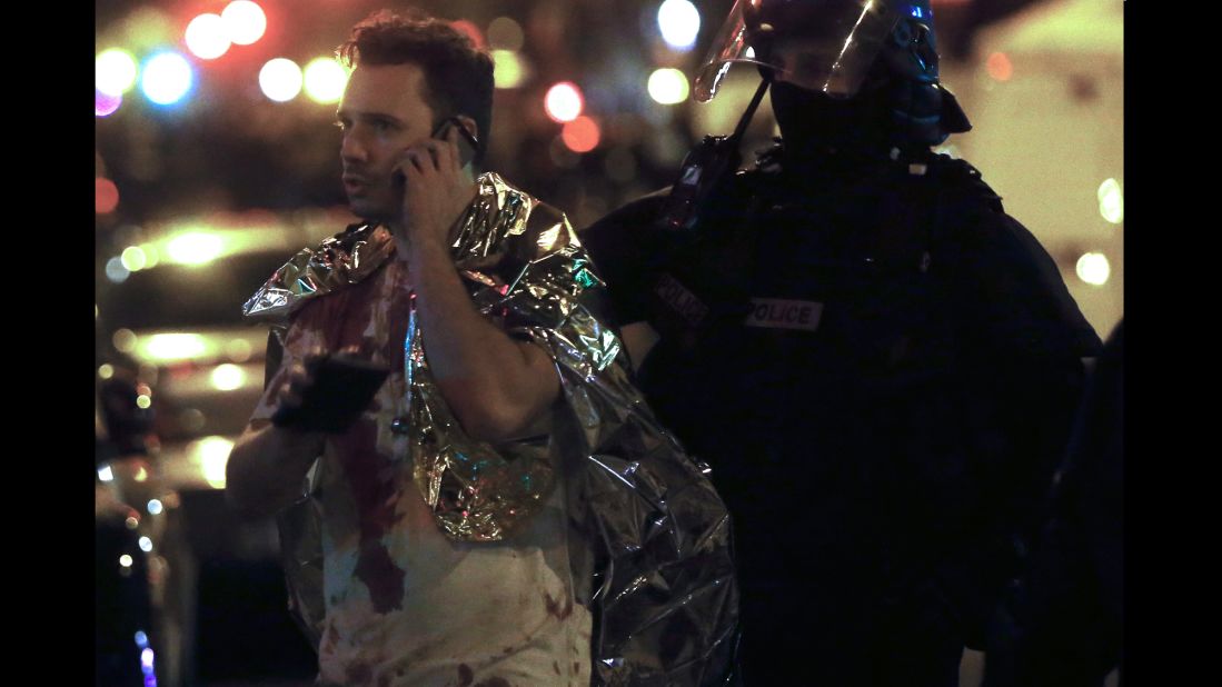
[[[475,197],[475,185],[461,166],[458,131],[451,128],[445,141],[429,138],[403,153],[396,166],[402,174],[403,214],[407,247],[446,244],[450,230]],[[401,246],[402,247],[402,246]],[[407,259],[401,251],[401,259]]]

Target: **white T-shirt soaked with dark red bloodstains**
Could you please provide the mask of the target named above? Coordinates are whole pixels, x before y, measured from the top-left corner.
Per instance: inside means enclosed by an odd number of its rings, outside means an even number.
[[[356,351],[391,374],[362,417],[326,441],[320,484],[325,622],[319,682],[398,686],[589,685],[590,614],[574,601],[565,485],[521,531],[462,543],[435,524],[413,482],[403,340],[407,265],[292,315],[284,359],[254,418],[270,418],[288,372],[314,352]]]

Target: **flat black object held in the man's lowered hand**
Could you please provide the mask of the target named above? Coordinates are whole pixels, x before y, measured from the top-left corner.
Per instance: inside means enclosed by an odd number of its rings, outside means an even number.
[[[390,369],[370,361],[335,353],[312,366],[314,383],[302,391],[301,406],[281,406],[271,416],[276,427],[343,433],[369,407]]]

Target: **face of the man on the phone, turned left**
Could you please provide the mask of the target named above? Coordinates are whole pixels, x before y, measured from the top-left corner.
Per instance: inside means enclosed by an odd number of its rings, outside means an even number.
[[[348,78],[336,117],[343,130],[343,191],[357,216],[400,216],[402,177],[392,170],[403,150],[433,133],[425,87],[424,72],[414,64],[360,65]]]

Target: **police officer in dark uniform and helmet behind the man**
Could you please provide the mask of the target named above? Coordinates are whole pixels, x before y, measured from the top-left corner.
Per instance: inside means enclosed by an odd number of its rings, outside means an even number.
[[[759,68],[738,132],[582,232],[734,517],[749,685],[956,685],[1099,345],[979,172],[931,153],[969,128],[932,29],[925,0],[739,0],[695,87]],[[734,172],[769,87],[782,139]]]

